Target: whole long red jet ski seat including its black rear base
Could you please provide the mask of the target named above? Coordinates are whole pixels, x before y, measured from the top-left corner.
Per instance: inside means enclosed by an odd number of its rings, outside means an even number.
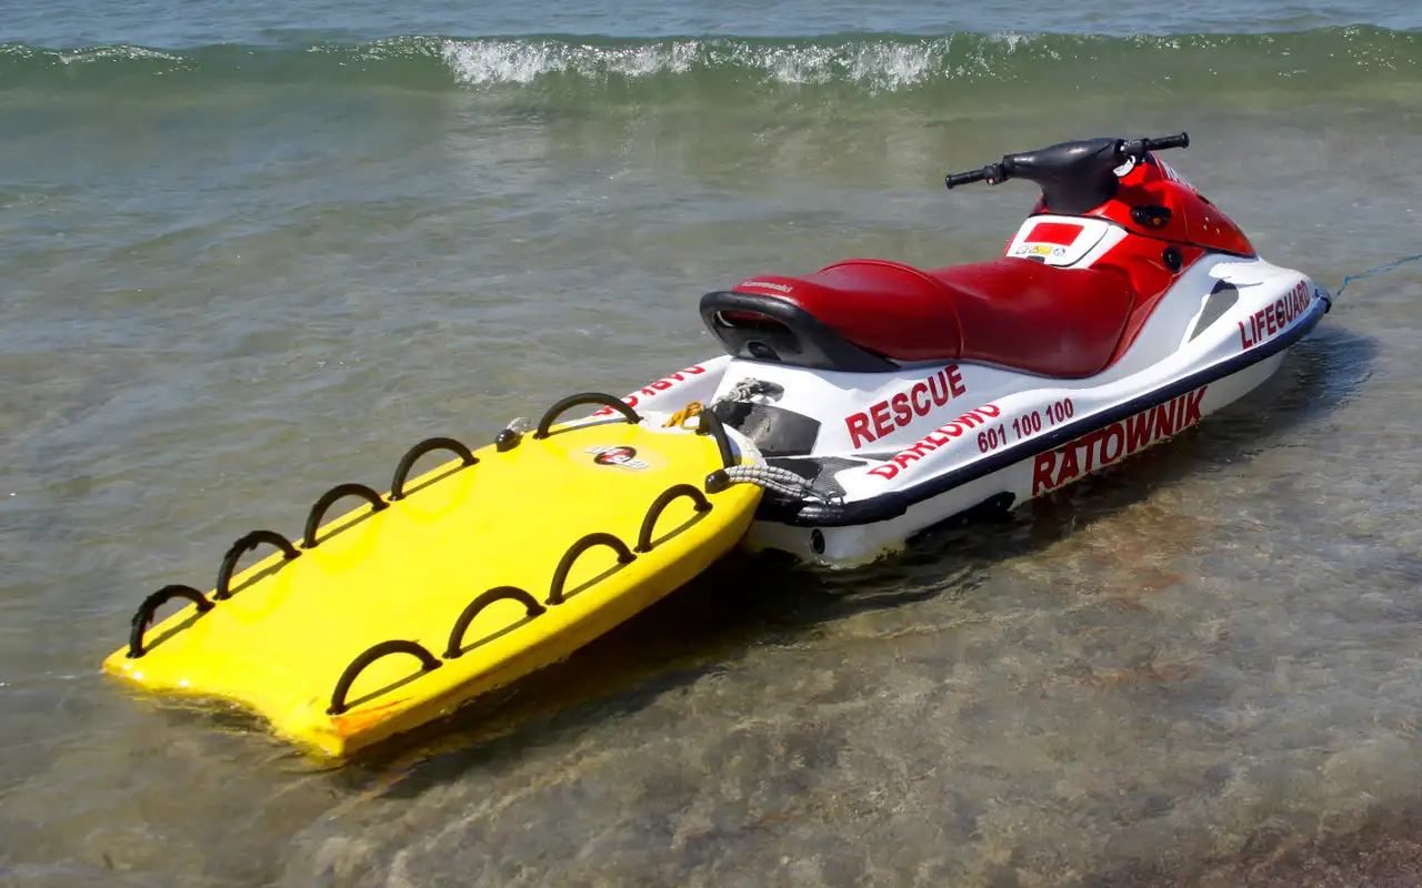
[[[848,372],[894,362],[981,361],[1044,377],[1105,369],[1136,293],[1106,269],[1027,259],[926,271],[852,259],[708,293],[701,315],[732,355]]]

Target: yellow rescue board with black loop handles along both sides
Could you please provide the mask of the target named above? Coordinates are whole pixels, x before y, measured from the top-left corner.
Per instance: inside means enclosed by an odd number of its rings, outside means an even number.
[[[331,757],[439,718],[567,656],[745,534],[761,487],[705,492],[738,449],[720,425],[704,416],[698,433],[637,419],[550,426],[546,416],[542,433],[472,453],[421,442],[390,493],[343,484],[313,506],[301,540],[253,531],[208,592],[149,595],[104,668],[145,691],[242,703]],[[437,449],[456,457],[401,480]],[[321,526],[351,494],[371,502]],[[277,551],[233,570],[266,544]],[[146,628],[173,598],[189,604]]]

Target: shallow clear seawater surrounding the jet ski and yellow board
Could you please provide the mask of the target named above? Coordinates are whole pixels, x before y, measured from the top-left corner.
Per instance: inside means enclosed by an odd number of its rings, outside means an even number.
[[[353,767],[97,672],[149,590],[414,440],[712,354],[705,290],[993,254],[1032,195],[941,175],[1005,151],[1187,129],[1172,163],[1266,257],[1337,288],[1418,253],[1422,37],[1332,27],[1416,28],[1398,7],[1071,37],[1111,31],[1088,4],[1027,43],[685,67],[619,43],[700,33],[675,7],[636,31],[263,7],[213,34],[142,9],[165,24],[53,7],[0,34],[172,57],[0,58],[0,884],[1236,884],[1416,804],[1418,264],[1109,477],[863,571],[731,558]],[[1008,27],[705,9],[737,37]],[[341,28],[458,37],[307,51]],[[619,37],[481,40],[559,30]]]

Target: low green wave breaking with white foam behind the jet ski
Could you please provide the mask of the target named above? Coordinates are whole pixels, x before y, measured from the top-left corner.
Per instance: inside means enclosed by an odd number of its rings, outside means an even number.
[[[209,45],[183,51],[114,45],[0,45],[0,91],[18,85],[324,81],[425,90],[609,85],[634,81],[721,82],[731,87],[840,84],[903,91],[943,81],[1051,82],[1064,70],[1240,72],[1249,77],[1388,74],[1412,78],[1422,34],[1352,26],[1283,34],[1103,37],[975,34],[842,36],[805,40],[707,37],[599,40],[391,37],[296,48]]]

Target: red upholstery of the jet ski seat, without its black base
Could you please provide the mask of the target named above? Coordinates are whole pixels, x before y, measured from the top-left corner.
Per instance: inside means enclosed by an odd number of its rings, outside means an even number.
[[[735,287],[795,303],[850,342],[894,361],[984,361],[1048,377],[1103,369],[1130,317],[1130,278],[998,259],[924,273],[886,260]]]

